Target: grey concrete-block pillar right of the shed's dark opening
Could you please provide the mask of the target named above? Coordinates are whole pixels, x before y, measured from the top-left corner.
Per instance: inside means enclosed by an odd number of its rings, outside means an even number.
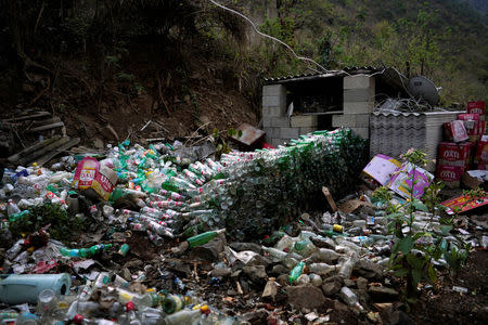
[[[360,75],[344,77],[344,114],[332,117],[332,127],[351,128],[361,138],[369,139],[374,94],[374,77]]]

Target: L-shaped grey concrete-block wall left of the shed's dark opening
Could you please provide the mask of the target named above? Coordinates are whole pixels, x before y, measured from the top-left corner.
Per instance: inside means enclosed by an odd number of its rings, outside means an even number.
[[[286,116],[286,88],[283,84],[262,87],[262,129],[272,146],[281,145],[300,134],[317,130],[317,116]]]

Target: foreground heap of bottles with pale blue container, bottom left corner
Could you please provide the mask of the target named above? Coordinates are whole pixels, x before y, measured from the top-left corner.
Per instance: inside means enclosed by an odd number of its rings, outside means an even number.
[[[141,294],[130,290],[127,281],[108,272],[101,272],[92,282],[87,281],[76,288],[77,294],[69,289],[60,292],[46,288],[34,297],[27,297],[44,286],[55,287],[55,281],[63,276],[68,277],[67,274],[27,274],[4,280],[2,301],[28,301],[36,308],[31,310],[24,306],[22,312],[4,310],[0,314],[2,324],[246,324],[201,303],[191,291],[185,296],[168,295],[151,288]],[[29,292],[13,292],[25,285],[30,287]]]

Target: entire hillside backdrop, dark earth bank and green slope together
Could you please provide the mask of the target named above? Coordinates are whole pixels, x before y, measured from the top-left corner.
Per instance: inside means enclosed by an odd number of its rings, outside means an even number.
[[[487,100],[487,20],[464,1],[221,2],[328,69],[391,65],[442,87],[445,106]],[[309,72],[210,1],[2,0],[2,8],[1,110],[48,109],[88,142],[256,123],[265,78]],[[147,120],[162,128],[140,132]]]

